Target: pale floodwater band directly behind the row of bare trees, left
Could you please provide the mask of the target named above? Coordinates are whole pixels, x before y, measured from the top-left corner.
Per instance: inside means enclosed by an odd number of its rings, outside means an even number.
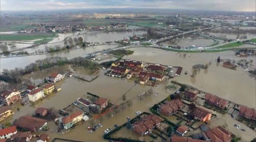
[[[1,72],[3,68],[14,69],[15,67],[25,67],[26,65],[35,62],[35,60],[41,60],[48,57],[67,57],[68,59],[83,56],[85,54],[93,53],[96,51],[100,51],[103,49],[114,48],[117,45],[99,45],[99,46],[91,46],[86,48],[79,48],[74,50],[67,50],[56,53],[48,53],[41,55],[33,55],[33,56],[23,56],[23,57],[12,57],[12,58],[1,58]],[[10,64],[11,63],[11,64]]]

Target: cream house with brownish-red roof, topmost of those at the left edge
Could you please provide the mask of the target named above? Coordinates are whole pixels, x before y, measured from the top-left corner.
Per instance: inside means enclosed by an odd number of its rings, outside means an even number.
[[[14,102],[19,101],[20,99],[20,92],[10,90],[0,92],[0,102],[2,102],[5,105],[9,106]]]

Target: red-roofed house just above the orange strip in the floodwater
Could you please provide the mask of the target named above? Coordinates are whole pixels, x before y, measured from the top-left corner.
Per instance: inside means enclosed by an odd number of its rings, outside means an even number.
[[[94,113],[101,113],[101,111],[108,106],[108,99],[99,97],[93,104],[89,105],[89,110]]]

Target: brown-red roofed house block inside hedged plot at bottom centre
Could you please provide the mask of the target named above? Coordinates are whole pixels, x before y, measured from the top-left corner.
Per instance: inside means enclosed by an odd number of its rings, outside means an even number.
[[[141,120],[132,124],[132,129],[139,133],[141,136],[151,133],[155,127],[161,125],[161,118],[158,115],[150,114],[141,117]]]

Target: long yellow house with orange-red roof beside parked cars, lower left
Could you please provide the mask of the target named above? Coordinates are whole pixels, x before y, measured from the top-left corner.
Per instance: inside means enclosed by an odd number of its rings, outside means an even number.
[[[65,130],[73,127],[75,123],[81,120],[83,120],[83,113],[81,111],[77,111],[69,116],[66,116],[60,119],[60,121],[62,122],[63,128]]]

